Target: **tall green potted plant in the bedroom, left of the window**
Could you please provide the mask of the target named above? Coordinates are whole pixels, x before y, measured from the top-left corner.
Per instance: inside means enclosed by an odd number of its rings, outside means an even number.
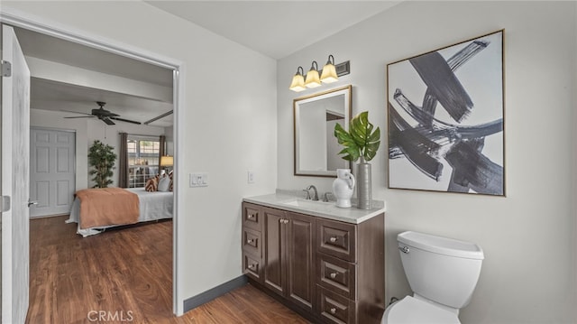
[[[98,140],[92,143],[92,146],[88,149],[88,163],[94,167],[88,173],[94,175],[92,181],[96,182],[96,185],[92,188],[107,188],[113,182],[110,178],[113,175],[115,161],[114,147]]]

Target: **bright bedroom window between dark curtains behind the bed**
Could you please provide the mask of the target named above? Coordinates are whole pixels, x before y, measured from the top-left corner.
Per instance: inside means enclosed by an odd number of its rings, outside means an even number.
[[[127,147],[128,188],[144,187],[159,172],[159,138],[129,135]]]

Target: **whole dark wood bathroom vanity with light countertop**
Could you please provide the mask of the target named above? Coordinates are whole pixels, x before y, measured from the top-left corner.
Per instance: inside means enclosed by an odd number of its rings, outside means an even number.
[[[270,194],[243,199],[243,272],[313,322],[380,323],[384,208]]]

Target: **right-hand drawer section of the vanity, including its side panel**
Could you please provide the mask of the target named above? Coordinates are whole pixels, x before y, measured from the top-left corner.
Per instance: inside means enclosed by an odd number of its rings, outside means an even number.
[[[325,323],[380,323],[385,310],[385,218],[316,219],[316,315]]]

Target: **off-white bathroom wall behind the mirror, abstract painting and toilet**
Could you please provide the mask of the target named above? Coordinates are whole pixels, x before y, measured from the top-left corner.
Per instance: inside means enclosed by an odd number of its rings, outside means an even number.
[[[351,60],[353,115],[370,112],[381,148],[372,161],[373,198],[387,200],[386,299],[408,294],[396,236],[417,230],[476,242],[481,278],[463,323],[575,323],[575,2],[405,2],[279,60],[279,188],[332,179],[292,174],[289,81],[299,65]],[[505,29],[507,197],[387,188],[387,63]],[[319,91],[324,91],[324,87]]]

